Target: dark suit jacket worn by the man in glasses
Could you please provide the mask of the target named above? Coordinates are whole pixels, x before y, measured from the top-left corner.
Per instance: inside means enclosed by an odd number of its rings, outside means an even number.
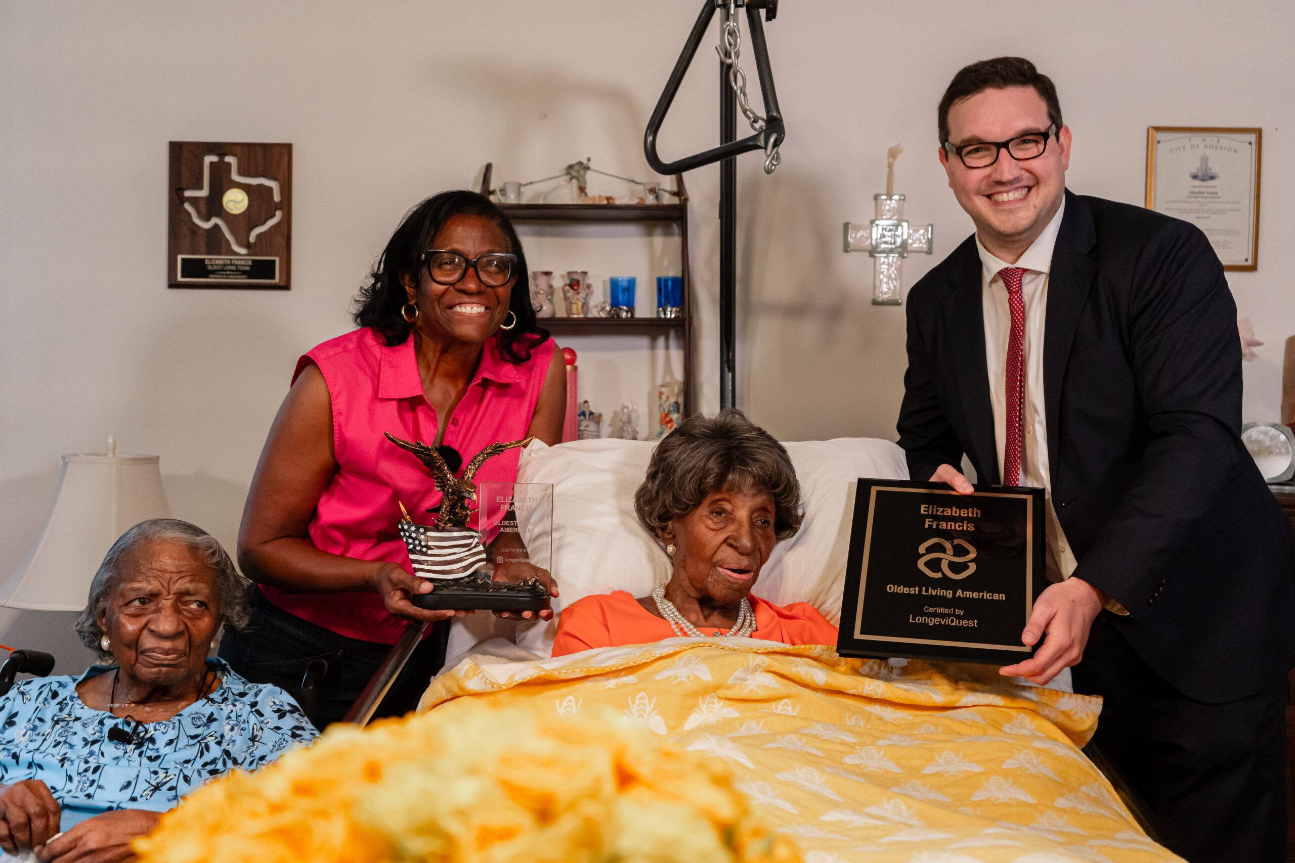
[[[970,237],[909,292],[899,444],[909,474],[998,484],[980,257]],[[997,370],[1001,374],[1001,370]],[[1066,191],[1044,333],[1048,462],[1075,574],[1182,694],[1224,703],[1295,665],[1292,533],[1241,442],[1241,342],[1195,226]]]

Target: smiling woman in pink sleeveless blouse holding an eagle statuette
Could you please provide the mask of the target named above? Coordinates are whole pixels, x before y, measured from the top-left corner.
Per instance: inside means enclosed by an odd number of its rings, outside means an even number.
[[[409,602],[431,585],[411,572],[400,503],[417,516],[440,493],[383,432],[436,446],[456,472],[456,461],[496,441],[561,441],[566,371],[526,278],[499,207],[440,193],[391,237],[356,299],[359,329],[297,362],[238,533],[238,563],[258,585],[253,621],[225,634],[220,656],[250,681],[290,688],[313,660],[328,661],[321,728],[360,696],[408,620],[439,621],[377,716],[412,709],[444,661],[447,618],[466,613]],[[496,455],[477,481],[515,480],[518,458]],[[495,577],[531,574],[552,584],[524,563],[500,564]]]

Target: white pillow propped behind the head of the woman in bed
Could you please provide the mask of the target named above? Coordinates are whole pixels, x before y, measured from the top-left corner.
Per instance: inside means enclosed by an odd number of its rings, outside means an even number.
[[[532,442],[522,453],[519,483],[553,488],[553,574],[561,596],[554,611],[591,594],[625,590],[646,596],[670,578],[670,556],[638,524],[635,490],[648,472],[655,442],[581,440],[558,446]],[[805,519],[780,542],[760,571],[754,593],[778,606],[808,602],[828,620],[840,618],[840,591],[850,549],[850,521],[860,476],[908,479],[904,452],[870,437],[783,444],[796,468]],[[501,634],[487,615],[471,621],[452,647]],[[557,621],[522,624],[515,640],[549,656]]]

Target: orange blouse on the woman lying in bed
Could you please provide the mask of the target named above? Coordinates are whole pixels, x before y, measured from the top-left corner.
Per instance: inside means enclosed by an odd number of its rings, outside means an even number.
[[[786,608],[751,595],[755,631],[751,638],[783,644],[835,644],[837,628],[809,603]],[[720,630],[701,630],[703,635]],[[624,590],[585,596],[563,609],[553,637],[553,656],[576,653],[593,647],[648,644],[673,638],[670,624],[638,604]]]

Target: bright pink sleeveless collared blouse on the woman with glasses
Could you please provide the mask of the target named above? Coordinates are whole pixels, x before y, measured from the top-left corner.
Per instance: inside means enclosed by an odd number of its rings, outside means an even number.
[[[512,364],[491,336],[462,401],[449,417],[444,444],[464,457],[480,449],[526,436],[553,358],[549,339],[531,351],[531,358]],[[392,348],[381,334],[361,327],[313,348],[297,361],[293,380],[313,362],[324,374],[333,400],[333,457],[338,470],[315,507],[307,538],[321,551],[360,560],[390,560],[413,572],[396,523],[404,503],[418,524],[431,524],[425,512],[440,503],[440,492],[427,468],[383,432],[431,445],[436,437],[436,411],[422,393],[413,339]],[[475,481],[517,480],[519,449],[486,462]],[[474,525],[477,527],[477,525]],[[484,537],[483,537],[484,538]],[[265,596],[302,620],[339,635],[394,644],[404,621],[387,613],[372,593],[285,593],[262,585]]]

